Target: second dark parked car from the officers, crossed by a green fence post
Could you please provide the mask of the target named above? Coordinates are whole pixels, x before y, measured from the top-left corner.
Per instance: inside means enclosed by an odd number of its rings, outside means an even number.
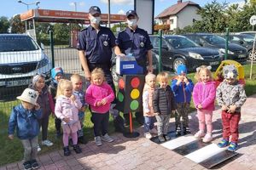
[[[194,33],[184,34],[192,41],[198,43],[202,47],[218,49],[221,54],[225,54],[225,39],[211,33]],[[229,43],[227,59],[233,59],[241,64],[247,62],[247,48],[236,43]]]

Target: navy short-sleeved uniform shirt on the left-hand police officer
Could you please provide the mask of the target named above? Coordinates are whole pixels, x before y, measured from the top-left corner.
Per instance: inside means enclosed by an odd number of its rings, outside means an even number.
[[[100,26],[100,31],[97,33],[96,29],[88,26],[80,32],[77,48],[85,51],[89,65],[110,65],[112,48],[117,45],[115,40],[109,28]]]

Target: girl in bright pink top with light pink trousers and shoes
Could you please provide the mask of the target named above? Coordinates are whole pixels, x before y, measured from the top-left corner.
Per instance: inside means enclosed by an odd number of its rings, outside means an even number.
[[[193,90],[193,100],[199,121],[199,131],[195,133],[195,138],[204,137],[203,142],[207,143],[212,141],[212,111],[214,111],[216,95],[216,85],[212,80],[211,66],[198,67],[195,79],[198,82]],[[206,124],[207,134],[205,135]]]

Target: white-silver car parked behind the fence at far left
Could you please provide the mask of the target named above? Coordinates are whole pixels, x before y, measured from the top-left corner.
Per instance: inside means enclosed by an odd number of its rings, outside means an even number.
[[[0,34],[0,92],[27,86],[38,74],[49,75],[51,62],[44,49],[25,34]]]

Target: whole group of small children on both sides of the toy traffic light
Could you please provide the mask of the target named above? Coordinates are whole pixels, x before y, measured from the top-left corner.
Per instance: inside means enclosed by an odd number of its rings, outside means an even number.
[[[178,65],[177,77],[169,85],[167,72],[157,76],[148,73],[143,88],[143,115],[145,137],[152,138],[151,133],[158,133],[160,142],[169,140],[168,129],[171,114],[175,115],[176,134],[190,133],[189,105],[193,97],[199,120],[199,131],[195,138],[203,138],[203,142],[212,140],[212,111],[215,98],[222,107],[223,139],[219,147],[229,145],[228,150],[237,149],[238,122],[241,117],[241,105],[246,100],[246,94],[241,84],[236,81],[237,71],[234,65],[224,67],[224,82],[216,90],[212,79],[211,68],[197,68],[195,84],[186,77],[185,65]],[[94,135],[97,146],[102,140],[113,142],[108,135],[108,119],[111,102],[115,98],[113,89],[105,81],[104,72],[96,68],[91,72],[90,86],[86,92],[82,88],[82,77],[74,74],[71,80],[63,79],[61,67],[51,70],[49,87],[45,84],[44,75],[32,78],[32,84],[17,97],[21,104],[13,108],[9,119],[9,139],[14,139],[16,128],[17,137],[24,147],[24,168],[38,168],[36,160],[38,151],[38,133],[42,127],[42,144],[51,146],[47,139],[50,112],[55,116],[56,135],[63,134],[64,156],[69,156],[69,140],[72,140],[73,150],[81,153],[78,143],[85,144],[84,111],[90,105],[91,122],[94,124]],[[217,96],[217,97],[216,97]],[[181,123],[183,117],[183,123]],[[157,130],[154,120],[157,120]],[[207,127],[207,133],[205,128]],[[230,139],[230,135],[232,138]]]

